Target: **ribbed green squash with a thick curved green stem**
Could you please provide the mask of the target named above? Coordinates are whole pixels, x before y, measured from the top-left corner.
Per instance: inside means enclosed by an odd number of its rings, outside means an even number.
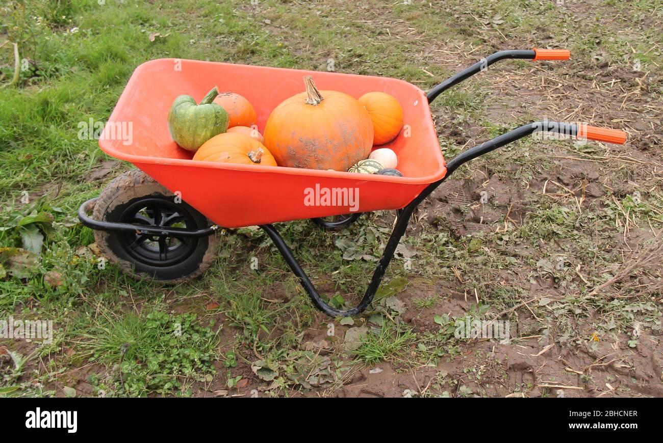
[[[228,113],[212,103],[217,95],[219,91],[214,87],[200,105],[190,95],[180,95],[172,102],[168,130],[174,142],[184,149],[196,151],[204,142],[228,129]]]

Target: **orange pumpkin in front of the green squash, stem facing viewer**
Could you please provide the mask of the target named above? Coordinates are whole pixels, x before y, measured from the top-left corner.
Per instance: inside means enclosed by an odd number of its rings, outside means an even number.
[[[237,132],[224,132],[213,136],[198,148],[194,160],[276,166],[276,160],[261,142]]]

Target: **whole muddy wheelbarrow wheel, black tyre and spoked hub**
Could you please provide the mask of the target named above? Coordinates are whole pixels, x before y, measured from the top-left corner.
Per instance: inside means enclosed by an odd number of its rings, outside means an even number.
[[[202,229],[208,219],[139,170],[123,173],[97,199],[93,218],[107,222]],[[99,250],[135,279],[179,283],[198,277],[216,256],[219,239],[153,236],[137,232],[95,230]]]

